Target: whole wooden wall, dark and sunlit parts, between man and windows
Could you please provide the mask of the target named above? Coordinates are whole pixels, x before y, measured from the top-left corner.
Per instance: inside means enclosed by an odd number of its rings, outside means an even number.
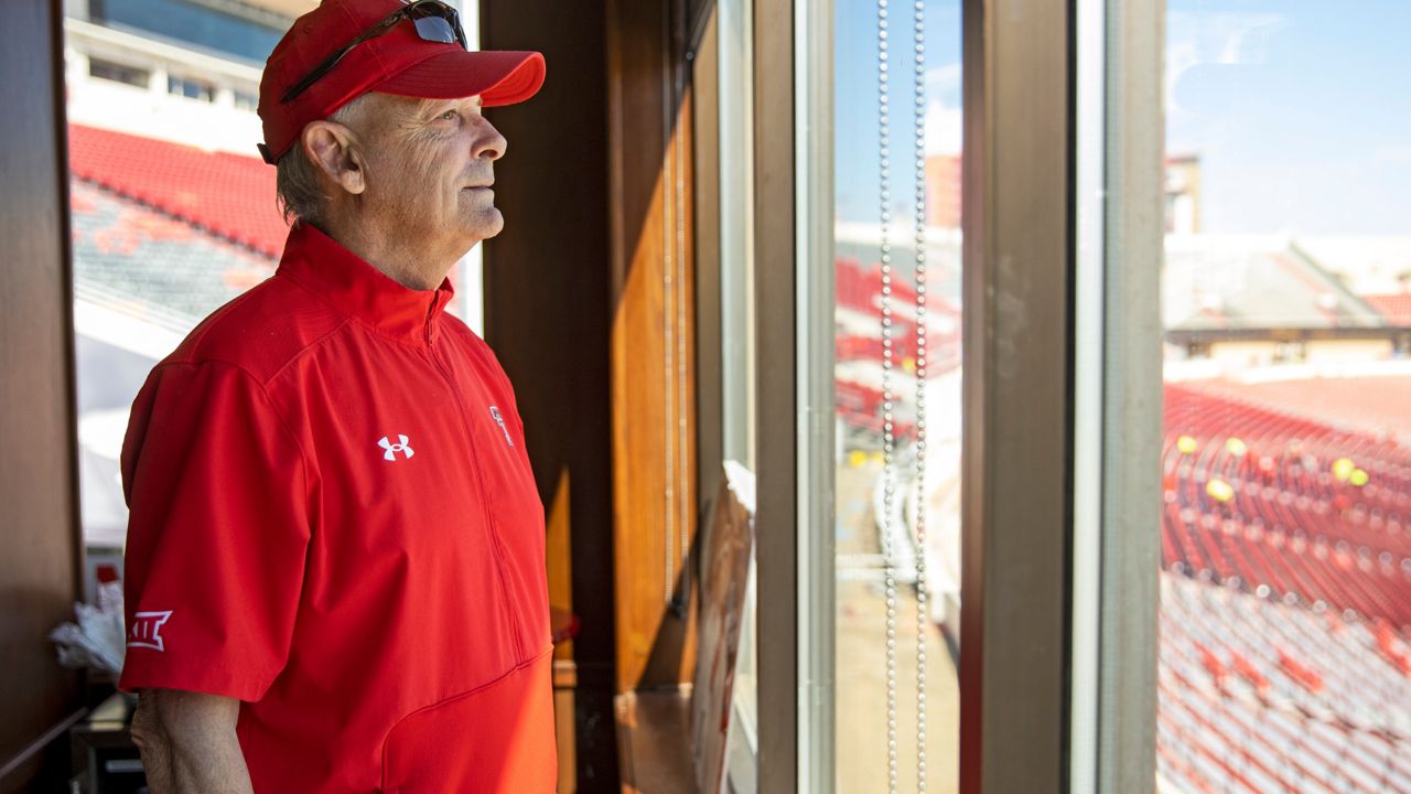
[[[607,790],[611,694],[690,681],[693,664],[686,6],[484,0],[481,13],[484,48],[547,61],[539,96],[488,112],[509,148],[495,182],[505,230],[485,243],[485,336],[515,384],[556,548],[567,514],[571,574],[552,565],[550,592],[571,579],[581,620],[577,783]]]

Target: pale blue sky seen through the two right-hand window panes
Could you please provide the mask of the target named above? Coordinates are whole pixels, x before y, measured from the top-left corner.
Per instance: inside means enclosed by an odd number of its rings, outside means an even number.
[[[837,0],[837,216],[878,216],[876,6]],[[912,194],[912,6],[892,6],[893,196]],[[927,147],[959,134],[959,3],[927,0]],[[1206,232],[1411,235],[1411,1],[1168,0],[1167,150]]]

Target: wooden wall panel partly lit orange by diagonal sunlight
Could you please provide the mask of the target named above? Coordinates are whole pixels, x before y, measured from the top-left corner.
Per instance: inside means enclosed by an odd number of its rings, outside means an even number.
[[[683,0],[610,0],[608,162],[617,687],[694,664],[693,95]]]

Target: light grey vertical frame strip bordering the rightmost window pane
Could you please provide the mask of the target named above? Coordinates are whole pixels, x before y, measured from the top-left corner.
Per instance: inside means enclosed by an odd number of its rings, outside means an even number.
[[[1161,268],[1130,263],[1160,263],[1164,256],[1165,3],[1084,4],[1092,6],[1095,16],[1101,10],[1105,32],[1105,62],[1098,75],[1103,127],[1094,130],[1102,138],[1103,158],[1102,302],[1091,307],[1101,314],[1103,332],[1094,346],[1081,346],[1078,356],[1101,356],[1091,367],[1102,389],[1101,519],[1092,528],[1099,533],[1095,545],[1101,555],[1095,575],[1108,596],[1099,593],[1096,603],[1096,691],[1085,698],[1096,712],[1095,746],[1086,757],[1095,764],[1091,790],[1120,794],[1151,787],[1156,778]],[[1126,527],[1150,531],[1123,531]]]

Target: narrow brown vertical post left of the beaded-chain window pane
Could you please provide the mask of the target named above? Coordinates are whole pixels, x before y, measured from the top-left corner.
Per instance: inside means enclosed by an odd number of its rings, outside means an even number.
[[[799,780],[794,0],[755,0],[755,468],[759,790]]]

